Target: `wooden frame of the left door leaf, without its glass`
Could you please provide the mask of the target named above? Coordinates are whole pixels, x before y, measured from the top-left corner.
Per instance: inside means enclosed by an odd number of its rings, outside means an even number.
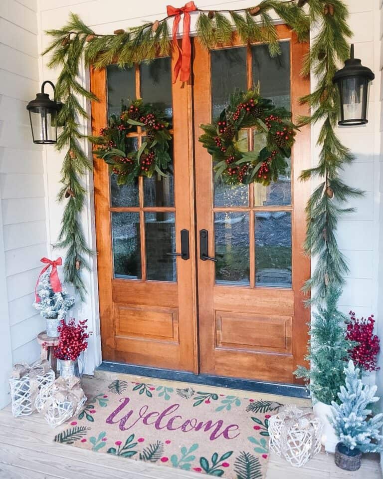
[[[172,71],[175,61],[176,58],[173,57]],[[136,85],[137,98],[141,96],[140,74],[141,70],[136,66],[133,84]],[[139,205],[112,207],[108,166],[94,157],[102,356],[106,360],[197,372],[194,183],[190,133],[192,86],[182,85],[181,82],[172,84],[171,73],[169,85],[172,89],[173,109],[174,207],[146,206],[142,177],[139,179]],[[100,128],[107,123],[106,69],[91,69],[91,89],[100,99],[92,102],[92,131],[93,134],[98,134]],[[123,90],[121,85],[120,89]],[[145,97],[143,100],[146,101]],[[137,138],[144,135],[138,129]],[[140,229],[142,279],[114,277],[111,214],[123,212],[133,212],[139,217],[136,228]],[[150,213],[175,215],[176,244],[172,248],[173,252],[181,250],[181,230],[189,231],[190,259],[177,258],[176,281],[147,279],[151,277],[148,271],[152,265],[147,264],[146,248],[152,252],[155,250],[156,254],[164,257],[172,252],[169,245],[150,241],[152,236],[145,238],[146,234],[153,233],[149,229],[153,225],[145,224],[145,215]],[[161,219],[155,221],[161,223]],[[164,235],[166,231],[164,226]]]

